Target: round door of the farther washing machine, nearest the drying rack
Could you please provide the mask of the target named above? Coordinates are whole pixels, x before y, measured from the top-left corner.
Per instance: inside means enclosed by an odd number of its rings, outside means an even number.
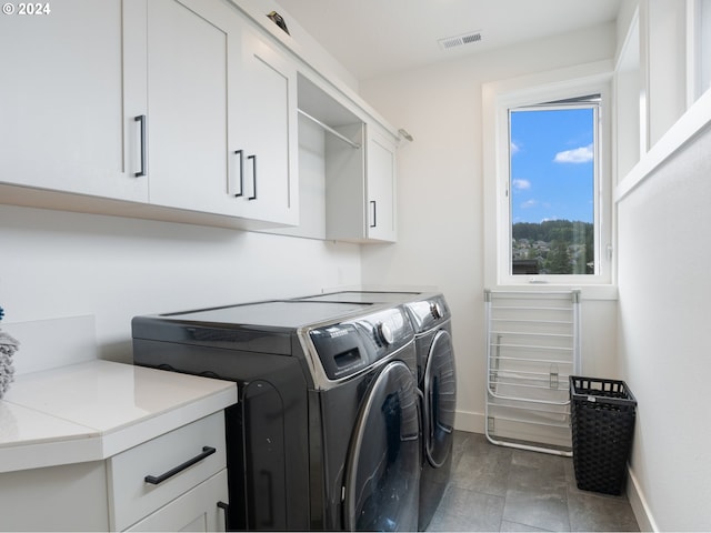
[[[452,340],[445,330],[434,335],[424,370],[424,444],[432,466],[441,466],[451,451],[457,406]]]

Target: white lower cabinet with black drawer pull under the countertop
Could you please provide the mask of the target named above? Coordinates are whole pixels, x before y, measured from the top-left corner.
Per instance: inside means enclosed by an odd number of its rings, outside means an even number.
[[[0,474],[1,531],[224,531],[222,411],[104,461]]]

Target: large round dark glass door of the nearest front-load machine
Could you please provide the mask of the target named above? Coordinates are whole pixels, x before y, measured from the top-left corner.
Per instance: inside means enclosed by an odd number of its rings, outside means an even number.
[[[393,361],[370,384],[356,423],[346,465],[347,530],[417,531],[419,425],[417,384]]]

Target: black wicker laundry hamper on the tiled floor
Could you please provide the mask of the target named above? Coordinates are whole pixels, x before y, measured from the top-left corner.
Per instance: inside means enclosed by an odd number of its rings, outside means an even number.
[[[570,376],[578,489],[619,495],[634,434],[637,400],[623,381]]]

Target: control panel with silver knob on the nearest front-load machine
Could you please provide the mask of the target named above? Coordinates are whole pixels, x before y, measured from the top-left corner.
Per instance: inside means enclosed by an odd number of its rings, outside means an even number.
[[[357,374],[377,361],[400,350],[414,338],[414,331],[401,308],[309,332],[323,370],[330,380]]]

